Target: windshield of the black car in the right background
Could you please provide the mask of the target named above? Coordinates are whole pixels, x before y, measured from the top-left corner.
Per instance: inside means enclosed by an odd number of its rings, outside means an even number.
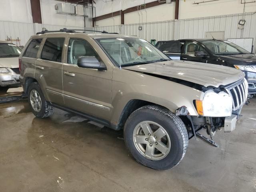
[[[202,41],[202,44],[206,46],[214,54],[250,54],[250,52],[228,41],[204,40]]]

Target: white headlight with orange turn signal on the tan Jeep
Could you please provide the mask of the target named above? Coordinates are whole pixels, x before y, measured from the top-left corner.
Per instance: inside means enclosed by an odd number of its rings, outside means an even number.
[[[232,98],[226,92],[206,91],[204,99],[196,100],[198,114],[207,117],[229,117],[232,114]]]

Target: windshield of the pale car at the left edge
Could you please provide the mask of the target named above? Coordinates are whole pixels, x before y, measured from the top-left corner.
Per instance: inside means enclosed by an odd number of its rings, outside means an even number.
[[[0,43],[0,58],[3,57],[18,57],[21,53],[21,49],[9,43]]]

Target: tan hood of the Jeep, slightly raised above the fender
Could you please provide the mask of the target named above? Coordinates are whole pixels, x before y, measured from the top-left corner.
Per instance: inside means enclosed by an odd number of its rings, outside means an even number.
[[[244,78],[244,73],[236,68],[188,61],[170,60],[136,66],[126,66],[123,68],[144,72],[146,74],[186,80],[205,87],[225,86]]]

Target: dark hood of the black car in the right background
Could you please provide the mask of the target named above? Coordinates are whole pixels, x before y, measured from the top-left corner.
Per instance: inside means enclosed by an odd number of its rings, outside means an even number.
[[[236,61],[235,65],[256,65],[255,54],[242,54],[242,55],[216,55],[221,59],[230,59]]]

